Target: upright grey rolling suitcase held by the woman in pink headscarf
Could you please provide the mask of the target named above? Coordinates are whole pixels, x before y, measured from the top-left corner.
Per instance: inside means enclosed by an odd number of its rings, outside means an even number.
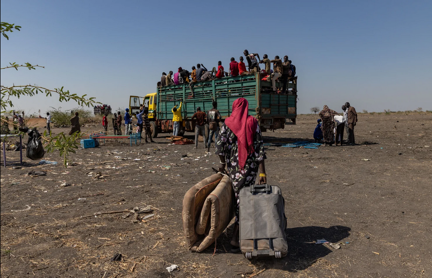
[[[247,259],[288,253],[285,201],[279,186],[252,185],[239,192],[240,250]]]

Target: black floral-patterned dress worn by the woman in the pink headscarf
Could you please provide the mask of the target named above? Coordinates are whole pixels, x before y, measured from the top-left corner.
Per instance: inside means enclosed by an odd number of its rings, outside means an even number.
[[[222,125],[221,132],[216,141],[216,154],[225,156],[227,162],[228,172],[234,186],[236,193],[236,222],[239,221],[239,197],[238,192],[245,186],[255,184],[257,173],[259,169],[259,161],[266,159],[264,152],[264,145],[262,143],[261,130],[257,125],[257,131],[254,135],[254,149],[255,152],[250,154],[246,159],[245,167],[243,170],[239,166],[239,146],[237,145],[237,136],[231,129]]]

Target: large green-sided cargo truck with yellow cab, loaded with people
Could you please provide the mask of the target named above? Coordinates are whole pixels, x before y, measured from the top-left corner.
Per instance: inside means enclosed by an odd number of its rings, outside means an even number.
[[[213,100],[218,103],[222,118],[230,116],[232,104],[239,97],[249,101],[249,114],[259,121],[261,131],[284,128],[285,124],[295,124],[297,116],[297,77],[287,84],[286,94],[271,91],[271,81],[262,81],[259,73],[255,75],[224,77],[194,84],[194,97],[189,84],[160,87],[157,93],[145,97],[131,96],[130,109],[136,112],[140,103],[149,107],[153,121],[153,135],[158,132],[173,130],[174,105],[182,99],[181,115],[183,117],[182,133],[194,131],[195,124],[191,117],[199,106],[207,112],[212,108]],[[282,83],[276,82],[282,91]],[[182,135],[179,134],[179,135]]]

